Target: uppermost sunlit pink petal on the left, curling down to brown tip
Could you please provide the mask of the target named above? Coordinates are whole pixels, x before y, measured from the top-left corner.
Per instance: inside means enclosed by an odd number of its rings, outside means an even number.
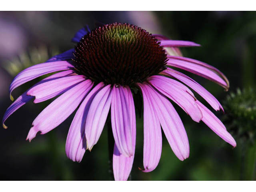
[[[56,72],[56,71],[62,71],[62,70],[68,70],[70,68],[73,68],[73,66],[66,62],[66,61],[56,61],[56,62],[46,62],[37,64],[34,66],[31,66],[29,68],[26,68],[22,72],[20,72],[10,84],[10,98],[13,100],[12,97],[12,91],[17,88],[18,86],[31,81],[37,77],[40,77],[42,75]]]

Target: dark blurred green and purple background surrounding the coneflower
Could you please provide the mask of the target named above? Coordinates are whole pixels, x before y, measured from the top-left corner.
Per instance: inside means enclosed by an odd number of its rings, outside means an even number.
[[[128,22],[150,33],[201,44],[201,47],[182,48],[182,54],[221,70],[230,81],[230,90],[225,92],[213,82],[186,74],[222,104],[227,104],[227,96],[236,93],[237,88],[255,89],[256,12],[0,12],[1,119],[11,104],[8,86],[15,74],[74,47],[71,38],[76,31],[85,24],[93,29],[95,22]],[[17,88],[14,97],[35,82]],[[254,95],[253,103],[255,92],[248,95],[249,98]],[[26,141],[32,121],[51,101],[29,102],[6,121],[7,130],[0,129],[0,179],[109,180],[106,128],[92,152],[86,151],[81,163],[68,160],[65,154],[66,136],[74,113],[48,134],[39,134],[31,143]],[[255,132],[255,118],[242,118],[234,126],[237,117],[229,116],[230,108],[227,107],[226,114],[215,112],[237,142],[237,147],[232,148],[204,123],[193,122],[176,104],[174,107],[188,134],[190,157],[184,162],[178,160],[162,134],[158,167],[150,173],[141,172],[138,167],[143,166],[143,120],[137,116],[132,180],[256,180],[256,145],[254,137],[247,136]],[[243,130],[245,122],[250,131]],[[237,134],[238,127],[245,136]]]

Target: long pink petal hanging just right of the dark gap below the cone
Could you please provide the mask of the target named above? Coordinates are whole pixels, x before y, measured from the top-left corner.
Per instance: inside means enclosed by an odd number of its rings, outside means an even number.
[[[143,165],[144,172],[150,172],[156,168],[159,163],[162,152],[162,132],[160,122],[156,116],[156,111],[144,88],[143,94],[144,106],[144,144],[143,144]]]

